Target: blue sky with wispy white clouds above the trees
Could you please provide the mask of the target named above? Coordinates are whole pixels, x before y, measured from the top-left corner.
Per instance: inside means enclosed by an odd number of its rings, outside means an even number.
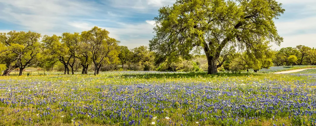
[[[316,0],[277,0],[285,13],[275,20],[281,46],[316,47]],[[0,32],[36,31],[42,35],[81,32],[98,26],[131,48],[148,46],[154,17],[175,0],[0,0]]]

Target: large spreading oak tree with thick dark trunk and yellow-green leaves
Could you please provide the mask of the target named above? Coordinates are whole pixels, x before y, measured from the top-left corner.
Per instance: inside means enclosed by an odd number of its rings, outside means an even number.
[[[283,42],[274,24],[284,12],[281,5],[276,0],[177,0],[159,9],[149,46],[169,58],[203,49],[208,73],[215,74],[225,47],[256,54],[266,42]]]

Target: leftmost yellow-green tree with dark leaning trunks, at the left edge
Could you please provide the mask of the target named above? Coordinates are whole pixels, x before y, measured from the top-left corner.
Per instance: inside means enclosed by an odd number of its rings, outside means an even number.
[[[28,66],[35,65],[41,55],[40,33],[10,31],[0,33],[1,62],[11,72],[15,68],[21,72]]]

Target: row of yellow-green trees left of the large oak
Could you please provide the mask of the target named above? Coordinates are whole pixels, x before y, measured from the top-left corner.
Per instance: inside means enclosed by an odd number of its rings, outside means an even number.
[[[32,31],[0,33],[0,70],[3,76],[13,70],[22,75],[30,66],[46,71],[55,68],[64,74],[74,74],[79,69],[87,74],[92,70],[94,75],[101,70],[118,69],[118,64],[125,70],[154,70],[154,54],[147,47],[130,50],[108,35],[108,31],[96,26],[81,33],[65,32],[62,36],[41,36]]]

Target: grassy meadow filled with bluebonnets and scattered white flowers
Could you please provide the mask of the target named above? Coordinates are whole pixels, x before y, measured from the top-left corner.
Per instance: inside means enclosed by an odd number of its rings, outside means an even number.
[[[0,125],[316,125],[316,74],[0,77]]]

